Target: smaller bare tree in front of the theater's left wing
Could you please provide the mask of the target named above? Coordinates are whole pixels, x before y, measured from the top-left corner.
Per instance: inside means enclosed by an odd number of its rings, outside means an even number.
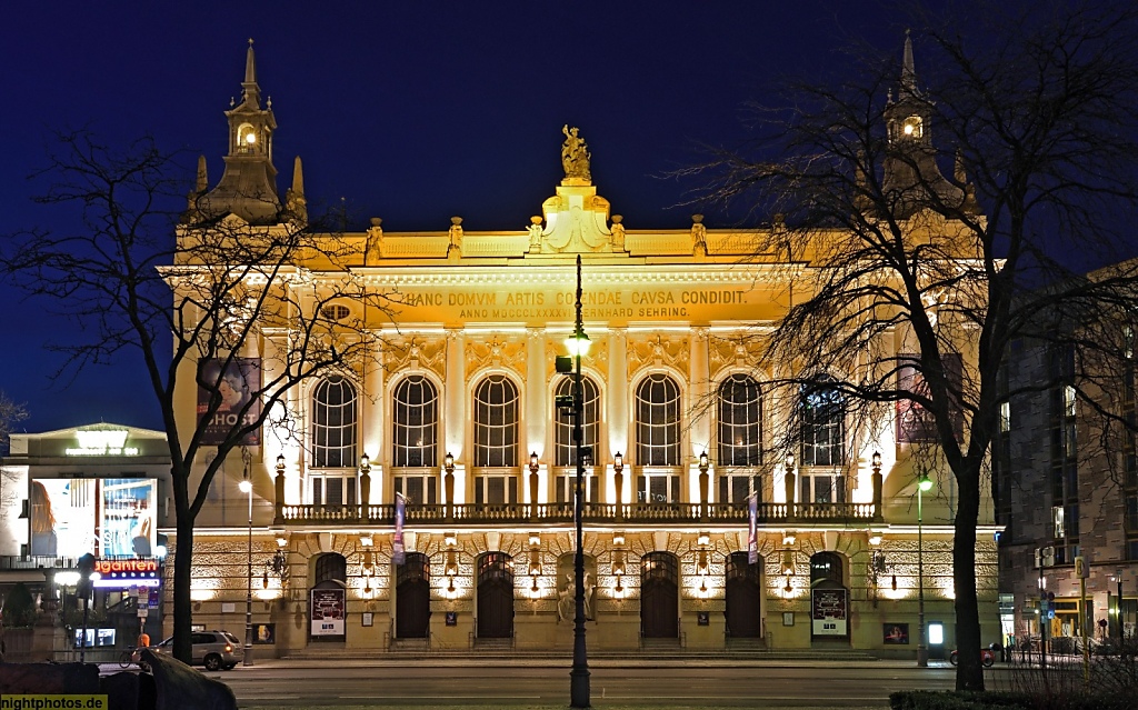
[[[86,133],[60,139],[40,174],[52,185],[38,201],[79,206],[82,221],[63,232],[9,236],[0,264],[81,329],[84,339],[56,346],[65,368],[125,356],[145,368],[172,461],[174,654],[189,661],[195,521],[214,476],[231,453],[262,443],[266,422],[274,431],[295,426],[289,390],[310,378],[363,375],[372,331],[327,306],[370,304],[380,316],[388,300],[352,274],[362,250],[310,223],[300,196],[290,195],[283,208],[275,196],[249,196],[263,198],[272,215],[250,224],[211,208],[199,174],[183,210],[178,176],[188,171],[152,141],[116,152]],[[231,398],[234,373],[246,390]],[[195,389],[197,415],[188,416]]]

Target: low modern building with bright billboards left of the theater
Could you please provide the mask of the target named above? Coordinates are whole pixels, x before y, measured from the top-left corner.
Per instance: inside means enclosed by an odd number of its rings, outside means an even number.
[[[76,560],[86,553],[98,559],[99,572],[86,645],[131,645],[142,628],[159,637],[160,530],[173,520],[166,436],[98,423],[13,434],[10,441],[0,463],[0,594],[26,586],[38,633],[34,649],[16,649],[9,635],[9,653],[16,652],[9,660],[59,659],[77,647]]]

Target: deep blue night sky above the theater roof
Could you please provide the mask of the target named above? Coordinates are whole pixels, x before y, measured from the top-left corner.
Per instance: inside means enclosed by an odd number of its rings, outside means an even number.
[[[629,229],[683,228],[701,142],[747,137],[742,105],[784,73],[831,71],[849,35],[896,46],[887,2],[20,2],[0,10],[0,233],[50,225],[26,176],[52,130],[124,146],[150,134],[222,172],[246,40],[279,124],[279,188],[304,159],[310,204],[356,225],[521,230],[561,179],[580,127],[599,192]],[[921,55],[917,48],[917,71]],[[187,180],[192,175],[188,174]],[[716,226],[715,222],[710,226]],[[721,224],[720,224],[721,225]],[[0,390],[27,431],[96,421],[158,428],[134,353],[53,382],[43,345],[72,328],[0,287]]]

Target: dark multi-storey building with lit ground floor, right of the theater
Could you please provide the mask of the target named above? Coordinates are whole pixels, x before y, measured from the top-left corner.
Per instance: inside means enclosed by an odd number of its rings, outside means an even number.
[[[1054,651],[1073,649],[1080,613],[1092,638],[1129,637],[1138,628],[1135,440],[1121,427],[1104,434],[1096,412],[1135,421],[1135,330],[1122,319],[1119,329],[1131,363],[1122,372],[1079,363],[1073,346],[1040,341],[1017,342],[1005,369],[1008,391],[1024,394],[1005,405],[992,447],[997,519],[1005,526],[1000,613],[1021,646],[1038,649],[1046,637]]]

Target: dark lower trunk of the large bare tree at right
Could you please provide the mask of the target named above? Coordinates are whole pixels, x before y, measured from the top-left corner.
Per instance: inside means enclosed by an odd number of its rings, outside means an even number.
[[[980,518],[980,461],[964,461],[957,476],[959,506],[953,540],[953,581],[956,586],[956,690],[984,690],[980,664],[980,606],[976,601],[976,523]]]

